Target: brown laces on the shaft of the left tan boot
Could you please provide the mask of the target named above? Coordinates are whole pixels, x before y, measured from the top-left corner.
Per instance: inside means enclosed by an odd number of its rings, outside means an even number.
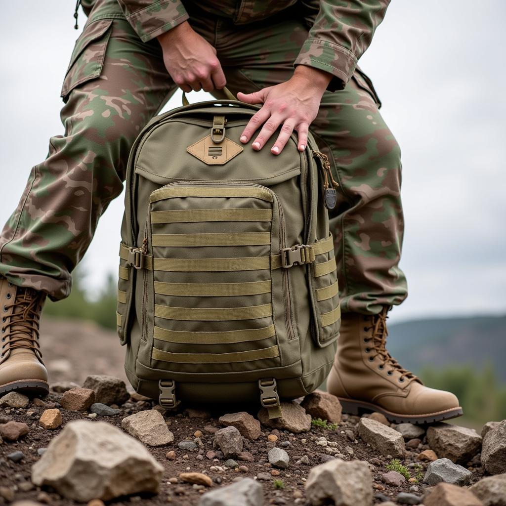
[[[2,320],[3,356],[10,350],[25,348],[33,350],[39,358],[42,358],[38,338],[40,305],[43,297],[41,292],[32,288],[18,288],[14,302],[4,306],[5,312],[10,308],[13,310]]]

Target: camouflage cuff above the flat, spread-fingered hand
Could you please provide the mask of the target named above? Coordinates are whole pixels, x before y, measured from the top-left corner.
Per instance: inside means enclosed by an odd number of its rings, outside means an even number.
[[[293,62],[293,65],[308,65],[333,75],[328,91],[343,90],[351,79],[357,58],[345,48],[326,40],[308,38]]]

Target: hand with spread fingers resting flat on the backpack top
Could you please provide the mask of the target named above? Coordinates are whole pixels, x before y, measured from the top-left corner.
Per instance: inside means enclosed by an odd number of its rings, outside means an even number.
[[[251,147],[261,150],[279,125],[283,125],[276,142],[271,148],[272,154],[283,151],[291,133],[296,130],[298,149],[304,151],[308,143],[309,125],[320,108],[321,97],[332,75],[328,72],[298,65],[293,75],[279,85],[269,86],[254,93],[238,93],[237,98],[248,104],[264,105],[257,111],[244,128],[240,141],[245,144],[262,126]]]

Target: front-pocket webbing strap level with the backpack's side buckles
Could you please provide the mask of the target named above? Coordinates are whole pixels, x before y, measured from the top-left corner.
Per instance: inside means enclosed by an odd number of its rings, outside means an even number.
[[[146,265],[145,265],[146,266]],[[149,267],[146,266],[149,269]],[[155,258],[155,271],[168,272],[226,272],[258,271],[270,268],[269,257],[182,259]]]

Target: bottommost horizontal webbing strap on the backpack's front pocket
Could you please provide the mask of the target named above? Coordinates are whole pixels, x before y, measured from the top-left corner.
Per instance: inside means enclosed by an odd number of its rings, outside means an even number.
[[[226,364],[229,362],[251,362],[266,358],[279,357],[277,345],[261,350],[240,351],[235,353],[171,353],[153,348],[154,360],[176,364]]]

